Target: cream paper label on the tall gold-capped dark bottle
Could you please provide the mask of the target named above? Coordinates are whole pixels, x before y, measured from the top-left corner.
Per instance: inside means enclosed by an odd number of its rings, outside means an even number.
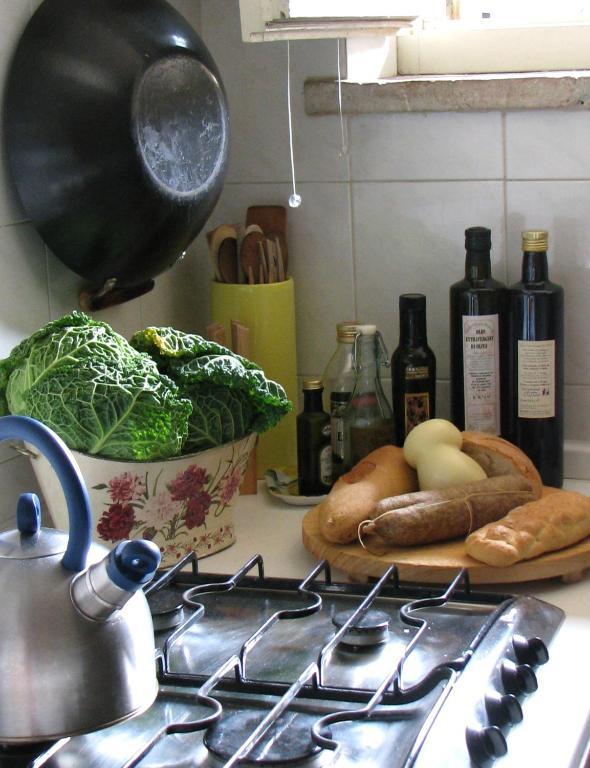
[[[555,340],[518,341],[518,417],[555,416]]]

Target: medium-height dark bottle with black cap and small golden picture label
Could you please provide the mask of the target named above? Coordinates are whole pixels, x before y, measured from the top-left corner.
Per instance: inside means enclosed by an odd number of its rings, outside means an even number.
[[[399,346],[391,358],[391,391],[395,441],[403,446],[408,433],[436,412],[436,358],[426,338],[426,296],[399,297]]]

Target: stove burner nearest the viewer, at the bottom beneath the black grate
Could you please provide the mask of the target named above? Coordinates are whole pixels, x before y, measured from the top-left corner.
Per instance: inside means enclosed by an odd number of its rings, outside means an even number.
[[[265,711],[246,710],[223,718],[205,733],[205,746],[225,762],[237,752],[266,714]],[[318,765],[323,750],[311,738],[311,726],[316,720],[317,716],[302,712],[283,713],[240,765]]]

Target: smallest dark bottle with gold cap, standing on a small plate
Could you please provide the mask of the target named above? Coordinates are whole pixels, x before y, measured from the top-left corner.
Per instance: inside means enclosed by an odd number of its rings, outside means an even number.
[[[330,416],[322,407],[320,379],[303,382],[303,411],[297,416],[297,477],[301,496],[319,496],[332,485]]]

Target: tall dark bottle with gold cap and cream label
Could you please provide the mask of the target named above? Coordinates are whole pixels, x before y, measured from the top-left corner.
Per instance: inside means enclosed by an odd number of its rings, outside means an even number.
[[[563,485],[563,288],[549,280],[547,232],[522,233],[522,280],[510,287],[507,437],[545,485]]]

